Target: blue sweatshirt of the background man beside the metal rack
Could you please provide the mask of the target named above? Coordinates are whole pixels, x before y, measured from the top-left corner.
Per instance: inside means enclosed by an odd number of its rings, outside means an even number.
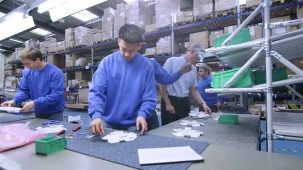
[[[204,79],[200,79],[198,83],[198,91],[203,98],[203,100],[206,102],[207,105],[214,105],[218,103],[218,95],[216,93],[206,93],[205,88],[212,88],[211,87],[211,80],[212,78],[210,76],[207,76]],[[220,103],[223,103],[225,99],[225,96],[220,97]]]

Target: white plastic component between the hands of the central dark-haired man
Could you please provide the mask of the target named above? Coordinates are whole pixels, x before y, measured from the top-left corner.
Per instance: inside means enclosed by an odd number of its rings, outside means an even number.
[[[119,143],[133,141],[137,138],[137,134],[133,132],[114,131],[102,138],[109,143]]]

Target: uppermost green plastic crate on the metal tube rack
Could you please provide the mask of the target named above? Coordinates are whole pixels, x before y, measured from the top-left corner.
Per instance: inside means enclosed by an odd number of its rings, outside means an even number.
[[[229,37],[230,35],[231,35],[231,33],[225,34],[225,35],[222,35],[222,36],[219,36],[219,37],[215,38],[214,47],[221,47],[222,42],[224,40],[226,40],[227,37]],[[245,42],[248,42],[248,41],[251,41],[251,40],[252,39],[251,39],[251,36],[250,36],[250,33],[249,33],[249,28],[244,28],[241,31],[239,31],[239,33],[233,39],[231,39],[226,44],[226,46],[241,44],[241,43],[245,43]],[[233,53],[239,53],[239,52],[242,52],[242,51],[245,51],[245,50],[247,50],[247,49],[230,50],[228,52],[224,52],[224,53],[219,54],[219,56],[220,57],[228,56],[228,55],[231,55]]]

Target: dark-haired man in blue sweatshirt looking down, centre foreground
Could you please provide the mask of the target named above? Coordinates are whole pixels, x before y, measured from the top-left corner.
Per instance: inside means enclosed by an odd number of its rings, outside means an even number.
[[[148,58],[140,55],[141,29],[125,24],[119,29],[117,51],[98,66],[89,89],[88,113],[93,134],[103,127],[136,132],[147,131],[146,119],[156,107],[154,70]]]

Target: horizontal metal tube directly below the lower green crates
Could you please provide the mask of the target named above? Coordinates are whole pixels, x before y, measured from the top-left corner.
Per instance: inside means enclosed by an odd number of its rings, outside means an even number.
[[[237,93],[237,92],[266,92],[266,87],[248,87],[248,88],[206,88],[207,93]]]

